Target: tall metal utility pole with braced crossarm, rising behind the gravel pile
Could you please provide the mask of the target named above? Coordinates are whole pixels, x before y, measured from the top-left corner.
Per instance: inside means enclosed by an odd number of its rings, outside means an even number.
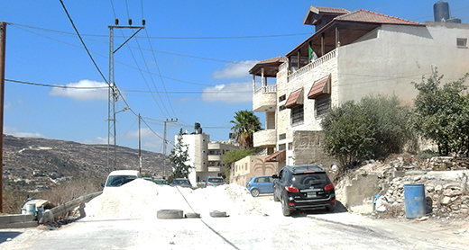
[[[110,171],[109,162],[111,158],[110,145],[111,137],[114,143],[114,170],[116,168],[116,153],[115,153],[115,103],[118,100],[119,93],[114,81],[114,54],[117,50],[121,49],[127,41],[131,40],[139,31],[144,29],[145,20],[142,20],[143,26],[132,26],[132,19],[129,19],[129,26],[119,26],[119,20],[115,19],[115,25],[107,26],[109,28],[109,89],[108,89],[108,103],[107,103],[107,170]],[[117,49],[114,49],[114,29],[138,29],[124,41]],[[112,121],[112,122],[111,122]]]

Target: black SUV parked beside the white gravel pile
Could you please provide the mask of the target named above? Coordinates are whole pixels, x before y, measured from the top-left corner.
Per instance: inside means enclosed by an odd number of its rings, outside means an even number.
[[[281,202],[284,216],[291,210],[336,209],[334,184],[319,165],[287,165],[273,174],[273,201]]]

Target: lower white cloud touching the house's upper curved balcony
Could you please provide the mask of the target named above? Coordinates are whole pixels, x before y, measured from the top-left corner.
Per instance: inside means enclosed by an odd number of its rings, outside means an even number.
[[[202,100],[205,102],[248,103],[253,102],[252,83],[234,83],[216,85],[203,90]]]

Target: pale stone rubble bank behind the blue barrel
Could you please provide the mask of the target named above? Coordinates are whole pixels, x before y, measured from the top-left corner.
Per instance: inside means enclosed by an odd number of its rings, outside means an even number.
[[[348,179],[338,183],[338,193],[345,193],[347,185],[369,186],[370,182],[365,183],[361,178],[374,178],[377,180],[377,183],[374,183],[377,196],[366,197],[363,204],[370,204],[373,199],[375,202],[379,200],[375,204],[376,211],[392,210],[397,216],[403,217],[404,185],[423,183],[428,214],[441,218],[466,218],[469,217],[468,166],[468,158],[448,156],[433,157],[425,161],[408,156],[397,157],[387,163],[371,162],[356,169],[354,175],[351,174]],[[371,178],[372,176],[374,177]],[[338,200],[340,201],[340,198]]]

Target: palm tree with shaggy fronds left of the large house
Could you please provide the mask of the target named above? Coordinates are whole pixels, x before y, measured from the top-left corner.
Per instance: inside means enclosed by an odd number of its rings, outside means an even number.
[[[236,142],[240,147],[253,148],[253,134],[261,130],[261,121],[254,112],[248,112],[247,110],[234,112],[235,121],[230,121],[234,123],[232,138],[236,138]]]

